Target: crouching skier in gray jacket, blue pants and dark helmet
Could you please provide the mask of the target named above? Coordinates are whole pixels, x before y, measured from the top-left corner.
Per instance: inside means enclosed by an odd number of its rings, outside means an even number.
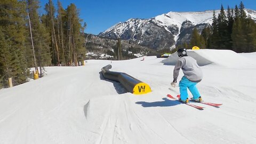
[[[201,82],[203,78],[203,73],[201,68],[197,65],[196,60],[187,55],[187,50],[185,48],[179,49],[177,51],[178,56],[180,57],[176,63],[173,70],[173,82],[171,85],[176,86],[177,78],[179,76],[180,68],[183,71],[184,76],[181,78],[179,83],[180,87],[180,100],[182,102],[188,103],[188,91],[193,94],[193,100],[201,102],[202,98],[197,90],[196,84]]]

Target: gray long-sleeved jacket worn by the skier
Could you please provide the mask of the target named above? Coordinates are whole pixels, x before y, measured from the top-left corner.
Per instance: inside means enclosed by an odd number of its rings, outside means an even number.
[[[197,65],[195,59],[189,56],[185,56],[178,60],[173,70],[173,79],[175,79],[175,81],[177,81],[179,76],[180,68],[182,69],[183,74],[189,79],[189,81],[196,83],[201,82],[203,73],[201,68]]]

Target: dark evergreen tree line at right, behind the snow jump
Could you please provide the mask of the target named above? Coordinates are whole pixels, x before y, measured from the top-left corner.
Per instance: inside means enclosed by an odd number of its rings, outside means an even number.
[[[239,6],[235,5],[235,9],[228,6],[226,12],[221,5],[218,17],[213,11],[212,25],[204,28],[201,34],[194,28],[190,43],[183,43],[182,46],[233,50],[238,53],[255,52],[256,23],[250,15],[246,15],[243,2]]]

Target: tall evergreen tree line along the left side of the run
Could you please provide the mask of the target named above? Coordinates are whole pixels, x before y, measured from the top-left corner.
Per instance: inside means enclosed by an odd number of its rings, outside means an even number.
[[[0,88],[9,77],[13,85],[27,82],[31,67],[77,66],[85,59],[86,23],[76,5],[64,9],[60,1],[55,7],[49,0],[41,15],[39,7],[38,0],[0,1]]]

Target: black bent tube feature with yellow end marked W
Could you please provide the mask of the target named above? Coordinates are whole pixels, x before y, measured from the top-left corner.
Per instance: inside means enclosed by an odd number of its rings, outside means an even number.
[[[116,71],[109,71],[111,65],[101,68],[101,73],[107,79],[121,83],[124,88],[133,94],[145,94],[151,92],[148,84],[139,81],[138,79],[127,75],[126,73],[119,73]]]

